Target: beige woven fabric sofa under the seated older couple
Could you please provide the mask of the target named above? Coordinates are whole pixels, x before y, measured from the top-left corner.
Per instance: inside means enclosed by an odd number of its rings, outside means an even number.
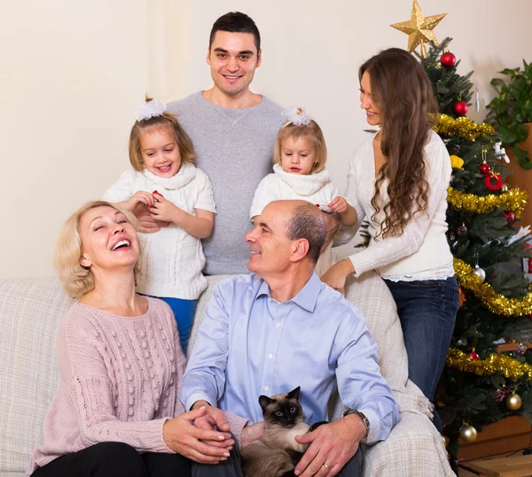
[[[192,345],[216,282],[209,277],[200,297]],[[454,476],[442,438],[427,418],[429,405],[407,379],[407,358],[395,304],[375,274],[348,286],[348,298],[366,315],[379,344],[382,373],[394,392],[402,420],[387,441],[364,449],[364,476]],[[0,281],[0,477],[23,475],[58,381],[55,339],[70,304],[54,279]],[[192,346],[190,347],[192,348]],[[332,402],[332,416],[342,412]]]

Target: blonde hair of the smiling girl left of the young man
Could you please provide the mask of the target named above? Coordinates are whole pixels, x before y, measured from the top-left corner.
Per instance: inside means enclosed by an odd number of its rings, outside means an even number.
[[[146,97],[146,103],[152,101],[151,98]],[[144,161],[142,159],[142,152],[140,150],[140,136],[153,129],[164,129],[168,127],[174,137],[176,138],[177,148],[181,155],[181,163],[193,163],[196,158],[196,151],[192,145],[191,138],[184,132],[175,114],[165,111],[160,116],[155,116],[150,119],[142,119],[135,121],[131,127],[129,135],[129,162],[137,172],[142,173],[145,169]]]

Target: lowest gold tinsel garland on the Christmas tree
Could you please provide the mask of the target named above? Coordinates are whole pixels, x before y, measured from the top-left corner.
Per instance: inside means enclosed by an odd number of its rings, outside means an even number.
[[[518,380],[523,377],[524,373],[528,373],[528,380],[532,381],[532,365],[521,363],[517,359],[498,353],[493,353],[486,359],[475,361],[468,358],[463,351],[451,348],[447,353],[447,365],[479,376],[502,373],[505,378],[512,378],[513,380]]]

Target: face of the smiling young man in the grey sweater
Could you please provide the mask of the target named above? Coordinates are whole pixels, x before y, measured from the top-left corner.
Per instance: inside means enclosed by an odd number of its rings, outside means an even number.
[[[207,64],[215,87],[225,95],[238,96],[253,81],[255,68],[261,65],[261,50],[257,51],[251,33],[217,31],[207,51]]]

